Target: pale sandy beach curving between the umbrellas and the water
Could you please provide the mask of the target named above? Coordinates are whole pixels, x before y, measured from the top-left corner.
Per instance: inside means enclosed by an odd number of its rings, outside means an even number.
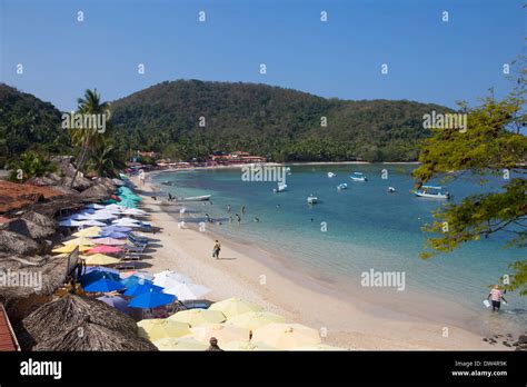
[[[221,257],[216,260],[211,258],[213,230],[199,231],[190,218],[183,228],[178,227],[179,206],[160,206],[160,200],[151,199],[148,192],[155,188],[148,177],[145,186],[139,186],[137,178],[132,182],[142,194],[152,222],[162,229],[155,236],[156,252],[146,260],[151,265],[148,269],[185,272],[196,284],[212,289],[207,296],[211,300],[240,297],[253,301],[290,321],[320,329],[325,343],[348,349],[494,348],[481,335],[448,321],[445,316],[463,312],[454,302],[416,297],[411,301],[415,312],[408,314],[382,302],[389,299],[382,291],[354,297],[340,284],[300,272],[279,257],[235,238],[221,238]]]

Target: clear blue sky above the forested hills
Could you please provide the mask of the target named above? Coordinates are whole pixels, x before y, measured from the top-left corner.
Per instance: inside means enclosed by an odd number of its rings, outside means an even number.
[[[0,0],[0,79],[76,107],[87,88],[113,100],[165,80],[262,82],[341,99],[449,107],[511,87],[516,0]],[[84,21],[77,21],[83,11]],[[206,22],[198,12],[206,12]],[[328,21],[320,21],[320,12]],[[441,12],[449,12],[449,21]],[[17,75],[17,64],[23,75]],[[138,73],[145,63],[146,73]],[[259,73],[266,63],[267,75]],[[388,75],[381,75],[381,64]]]

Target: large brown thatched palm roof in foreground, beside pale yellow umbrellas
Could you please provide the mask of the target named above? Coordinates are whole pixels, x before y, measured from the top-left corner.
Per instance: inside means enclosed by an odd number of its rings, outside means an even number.
[[[26,317],[24,350],[157,350],[137,335],[132,318],[97,299],[67,295]]]

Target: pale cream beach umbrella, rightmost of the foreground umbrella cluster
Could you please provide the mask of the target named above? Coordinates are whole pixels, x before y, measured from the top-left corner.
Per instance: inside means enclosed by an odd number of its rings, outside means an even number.
[[[321,343],[318,330],[300,324],[272,322],[252,330],[252,341],[279,349],[312,346]]]

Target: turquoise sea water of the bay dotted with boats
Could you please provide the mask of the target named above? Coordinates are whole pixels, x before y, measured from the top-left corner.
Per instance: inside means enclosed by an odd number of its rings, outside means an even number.
[[[275,182],[242,181],[239,169],[162,172],[153,176],[152,182],[163,192],[178,197],[212,195],[212,205],[187,205],[190,211],[196,211],[198,220],[207,212],[222,222],[215,226],[215,231],[279,252],[290,266],[309,269],[319,278],[338,277],[360,285],[360,274],[371,268],[405,271],[408,290],[446,297],[487,316],[489,311],[481,300],[488,294],[488,286],[509,272],[510,262],[525,259],[526,251],[504,249],[506,236],[497,235],[453,254],[420,259],[427,237],[421,226],[432,219],[431,211],[445,201],[417,198],[409,192],[414,168],[411,165],[290,166],[288,190],[280,194],[272,192]],[[382,169],[388,170],[388,179],[381,178]],[[328,171],[337,177],[328,178]],[[364,172],[369,181],[351,181],[352,171]],[[348,183],[347,190],[337,190],[341,182]],[[470,177],[449,182],[453,200],[498,190],[503,180],[491,178],[484,188],[476,182]],[[387,194],[389,186],[397,192]],[[315,206],[306,201],[310,194],[319,198]],[[228,205],[232,222],[228,219]],[[235,214],[241,215],[241,206],[246,206],[246,214],[238,225]],[[255,222],[255,217],[260,221]],[[525,328],[527,299],[514,294],[507,294],[506,298],[509,304],[504,306],[500,318]]]

